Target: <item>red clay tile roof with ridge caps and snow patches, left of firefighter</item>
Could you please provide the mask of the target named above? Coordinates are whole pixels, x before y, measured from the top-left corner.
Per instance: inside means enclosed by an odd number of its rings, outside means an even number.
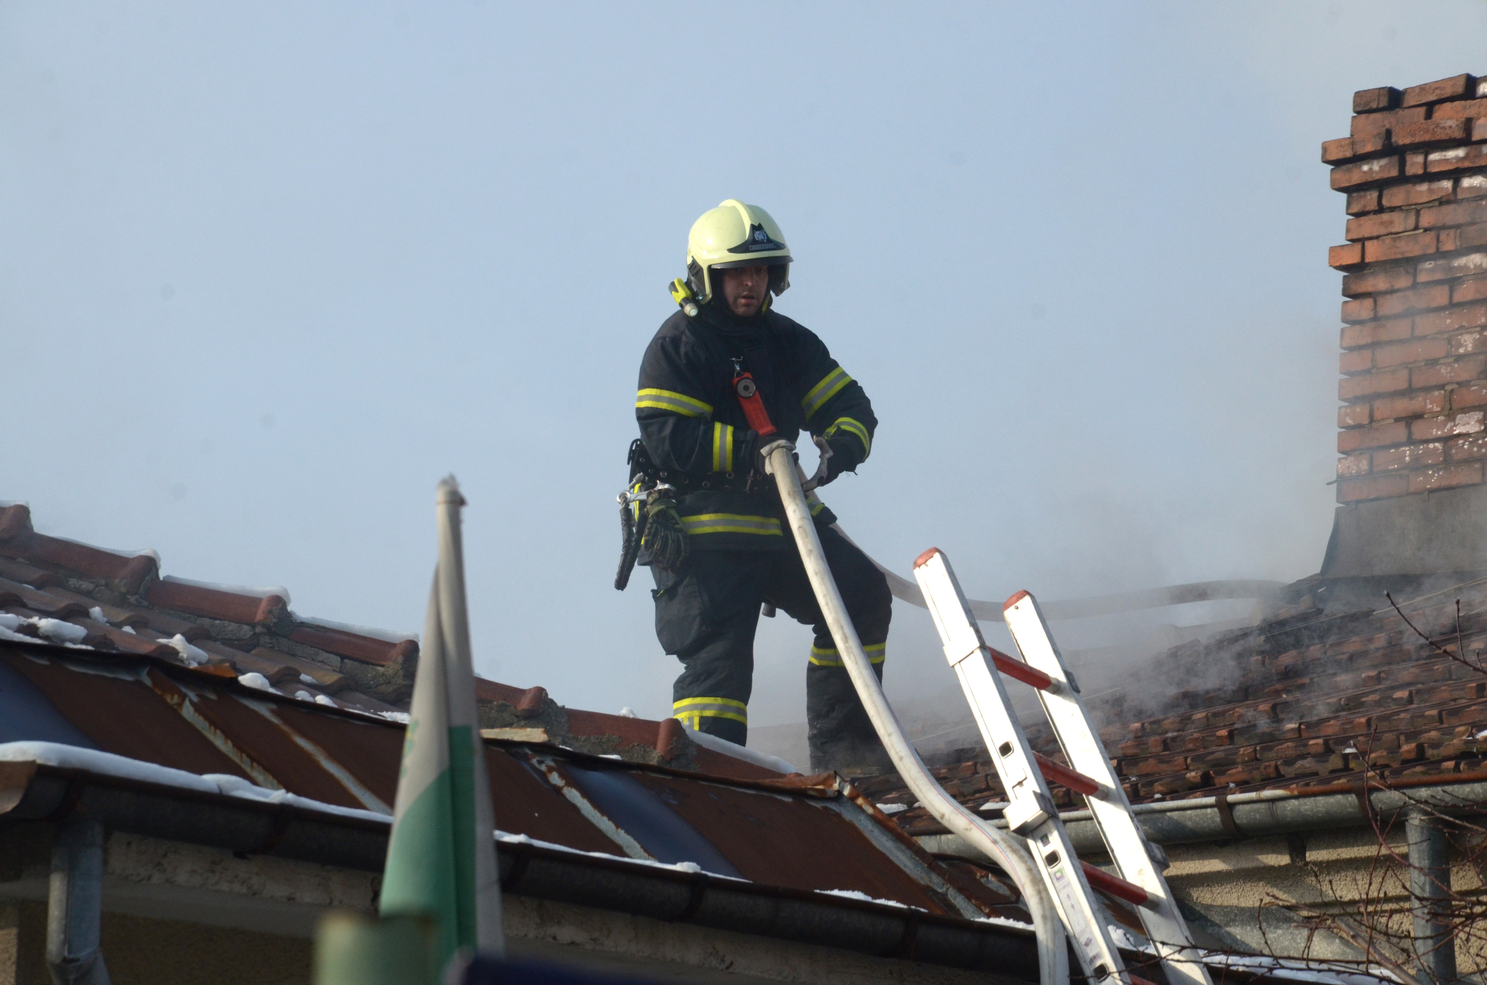
[[[155,552],[128,555],[39,534],[30,507],[19,503],[0,507],[0,638],[7,631],[198,665],[223,676],[257,674],[260,683],[306,702],[378,714],[406,710],[418,661],[413,638],[299,616],[288,607],[287,589],[162,577]],[[476,698],[483,723],[541,725],[550,739],[583,751],[739,778],[778,775],[697,747],[675,719],[654,722],[564,708],[544,687],[482,678],[476,678]],[[208,704],[202,713],[216,710],[260,726],[251,708]],[[266,728],[254,741],[283,745],[288,739]],[[366,793],[357,796],[364,800]],[[390,795],[375,796],[387,800]]]

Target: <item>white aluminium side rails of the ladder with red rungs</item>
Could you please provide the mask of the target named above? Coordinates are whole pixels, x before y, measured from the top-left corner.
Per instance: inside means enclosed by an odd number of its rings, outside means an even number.
[[[1141,981],[1126,970],[1115,949],[1103,906],[1090,888],[1096,885],[1136,906],[1146,939],[1172,985],[1212,985],[1161,876],[1166,854],[1146,841],[1132,815],[1126,790],[1111,768],[1105,745],[1080,701],[1080,686],[1065,668],[1036,600],[1017,592],[1004,607],[1007,628],[1022,653],[1019,661],[986,646],[961,583],[937,548],[915,561],[915,579],[1007,790],[1007,826],[1028,839],[1086,975],[1093,981],[1111,975]],[[1036,689],[1068,766],[1028,744],[993,668]],[[1050,780],[1084,795],[1118,876],[1080,862],[1048,795]]]

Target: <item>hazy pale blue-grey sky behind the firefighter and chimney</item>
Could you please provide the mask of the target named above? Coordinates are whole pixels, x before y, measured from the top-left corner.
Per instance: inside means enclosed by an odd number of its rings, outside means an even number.
[[[981,598],[1295,579],[1332,506],[1319,143],[1355,89],[1487,71],[1484,28],[1465,0],[4,3],[0,498],[416,629],[454,472],[482,673],[663,716],[614,493],[687,228],[738,196],[799,257],[781,311],[873,397],[825,498],[879,559],[937,545]],[[764,625],[755,723],[803,717],[807,647]],[[889,655],[891,695],[952,681],[919,610]]]

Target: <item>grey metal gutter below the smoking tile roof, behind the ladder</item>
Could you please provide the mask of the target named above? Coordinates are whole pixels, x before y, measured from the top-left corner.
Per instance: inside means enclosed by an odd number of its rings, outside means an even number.
[[[1401,820],[1411,803],[1426,803],[1441,812],[1487,812],[1487,772],[1462,774],[1454,783],[1439,777],[1407,777],[1389,786],[1378,781],[1344,781],[1292,790],[1254,790],[1249,793],[1163,800],[1132,805],[1146,838],[1158,845],[1234,841],[1309,832],[1322,827],[1364,827],[1373,821],[1390,824]],[[1105,842],[1088,811],[1059,815],[1080,854],[1105,854]],[[1373,820],[1371,820],[1373,818]],[[996,818],[992,824],[1005,827]],[[956,835],[920,835],[916,839],[931,853],[975,857]]]

